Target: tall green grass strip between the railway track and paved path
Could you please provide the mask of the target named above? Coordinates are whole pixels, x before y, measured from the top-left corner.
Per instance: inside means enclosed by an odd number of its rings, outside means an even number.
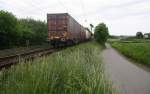
[[[115,94],[94,42],[80,44],[0,73],[0,94]]]

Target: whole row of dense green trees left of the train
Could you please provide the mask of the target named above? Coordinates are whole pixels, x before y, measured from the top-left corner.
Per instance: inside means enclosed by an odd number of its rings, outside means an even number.
[[[47,38],[47,23],[32,18],[18,19],[0,11],[0,48],[42,44]]]

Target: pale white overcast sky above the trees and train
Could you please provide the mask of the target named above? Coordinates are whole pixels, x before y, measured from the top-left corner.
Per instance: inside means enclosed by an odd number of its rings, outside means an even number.
[[[83,26],[106,23],[113,35],[150,32],[150,0],[0,0],[0,10],[45,21],[47,13],[68,12]]]

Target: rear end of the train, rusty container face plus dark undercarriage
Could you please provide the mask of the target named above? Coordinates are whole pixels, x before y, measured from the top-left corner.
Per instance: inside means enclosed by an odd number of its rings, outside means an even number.
[[[68,39],[68,16],[67,14],[47,14],[48,40],[52,45],[65,45]]]

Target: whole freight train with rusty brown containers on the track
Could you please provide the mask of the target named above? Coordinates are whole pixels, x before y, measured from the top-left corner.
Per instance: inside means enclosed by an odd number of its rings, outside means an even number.
[[[53,46],[72,45],[92,38],[92,33],[68,13],[47,14],[48,40]]]

